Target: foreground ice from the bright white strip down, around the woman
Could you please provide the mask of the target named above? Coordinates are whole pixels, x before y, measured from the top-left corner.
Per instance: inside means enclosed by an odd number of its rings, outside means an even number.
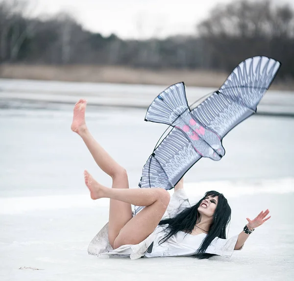
[[[2,198],[0,280],[185,280],[207,276],[217,276],[218,280],[293,280],[294,213],[291,210],[294,193],[293,189],[284,188],[287,182],[291,182],[293,188],[294,179],[287,179],[271,184],[270,193],[227,196],[232,208],[229,236],[242,231],[246,217],[252,218],[267,208],[272,215],[265,225],[251,234],[244,249],[234,252],[230,259],[130,260],[89,256],[90,240],[107,222],[108,202],[93,202],[89,196],[88,199],[81,196],[81,202],[75,196]],[[187,186],[189,195],[196,199],[198,196],[193,196],[191,184]],[[267,184],[259,187],[266,189]],[[280,193],[279,187],[289,192]],[[15,200],[21,206],[14,205]],[[25,207],[27,204],[30,204],[29,208]],[[40,270],[19,269],[21,267]]]

